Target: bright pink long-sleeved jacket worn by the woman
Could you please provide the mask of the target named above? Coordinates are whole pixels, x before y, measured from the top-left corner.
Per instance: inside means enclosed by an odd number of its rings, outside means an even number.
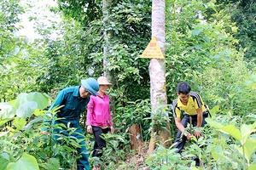
[[[100,94],[90,96],[90,102],[87,105],[86,125],[96,127],[113,126],[107,94],[104,94],[103,98]]]

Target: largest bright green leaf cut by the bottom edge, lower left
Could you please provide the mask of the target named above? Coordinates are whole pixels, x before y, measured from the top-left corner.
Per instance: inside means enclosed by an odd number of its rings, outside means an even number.
[[[38,161],[34,156],[24,153],[17,162],[9,163],[7,170],[39,170]]]

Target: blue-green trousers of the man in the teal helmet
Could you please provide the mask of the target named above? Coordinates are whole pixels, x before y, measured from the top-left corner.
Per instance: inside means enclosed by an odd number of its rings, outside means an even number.
[[[61,134],[64,134],[66,136],[72,135],[76,139],[83,139],[79,142],[81,147],[78,149],[78,152],[79,152],[79,155],[81,155],[82,157],[80,157],[77,160],[77,169],[78,170],[84,170],[84,169],[85,170],[90,170],[89,155],[87,154],[87,148],[86,148],[86,145],[85,145],[85,138],[84,138],[84,135],[83,135],[82,128],[79,126],[79,120],[72,120],[72,121],[68,120],[67,121],[65,119],[61,119],[61,120],[57,120],[57,121],[54,122],[54,124],[58,124],[58,123],[63,123],[66,126],[67,126],[67,123],[70,123],[69,127],[75,127],[76,128],[75,132],[73,132],[72,134],[69,134],[67,132],[67,129],[55,128],[54,129],[54,134],[61,133]],[[57,140],[59,138],[59,136],[54,135],[54,138]],[[61,143],[60,140],[58,142]]]

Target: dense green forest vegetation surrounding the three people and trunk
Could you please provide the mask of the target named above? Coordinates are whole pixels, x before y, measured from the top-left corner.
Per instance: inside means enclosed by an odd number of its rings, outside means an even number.
[[[149,59],[139,58],[151,38],[151,2],[113,0],[108,20],[103,20],[102,1],[57,3],[58,7],[46,9],[60,16],[60,22],[46,26],[48,15],[30,17],[40,35],[32,41],[17,36],[21,27],[16,25],[20,14],[32,12],[32,3],[0,3],[0,169],[74,169],[79,145],[65,136],[66,143],[58,145],[52,133],[40,133],[41,127],[54,128],[44,124],[45,112],[62,88],[77,86],[84,77],[100,77],[106,70],[113,82],[109,95],[116,132],[104,136],[108,146],[103,159],[90,158],[91,165],[104,162],[104,169],[256,168],[253,0],[166,1],[168,104],[171,108],[177,97],[177,82],[187,81],[212,113],[202,138],[187,144],[182,156],[161,145],[153,155],[143,155],[150,129],[166,119],[151,117]],[[103,37],[105,31],[111,35],[108,39]],[[169,112],[172,140],[176,127]],[[55,111],[50,114],[54,120]],[[152,118],[158,121],[153,123]],[[144,143],[139,151],[130,147],[128,129],[133,124],[141,127]],[[85,135],[92,150],[92,136]],[[200,156],[201,167],[191,161],[195,155]],[[128,161],[132,156],[137,161]]]

